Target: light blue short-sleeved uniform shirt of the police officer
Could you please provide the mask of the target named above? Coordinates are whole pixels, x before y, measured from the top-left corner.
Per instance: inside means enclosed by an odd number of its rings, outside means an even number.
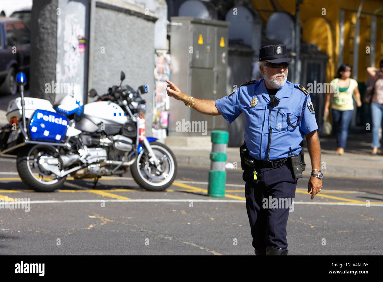
[[[297,124],[306,99],[304,92],[297,86],[298,84],[286,81],[275,95],[280,102],[272,110],[264,79],[241,86],[231,95],[215,101],[218,111],[229,123],[242,112],[246,115],[244,137],[250,156],[257,160],[267,160],[270,127],[272,129],[268,158],[270,161],[288,157],[289,147],[293,154],[298,155],[302,149],[299,144],[303,136],[318,129],[310,96],[303,109],[300,124],[296,128],[288,125],[287,115],[292,125]],[[253,98],[258,99],[255,106],[250,103]]]

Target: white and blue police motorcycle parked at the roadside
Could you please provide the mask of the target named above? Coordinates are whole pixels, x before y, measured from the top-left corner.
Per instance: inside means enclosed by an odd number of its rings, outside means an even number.
[[[121,83],[124,78],[121,72]],[[83,105],[65,96],[52,106],[44,99],[24,98],[25,74],[18,73],[16,79],[21,97],[9,102],[9,124],[0,129],[0,157],[16,157],[18,174],[28,188],[51,192],[62,188],[67,176],[94,178],[95,188],[101,176],[121,176],[129,168],[146,190],[163,191],[173,183],[173,152],[145,136],[146,101],[141,95],[147,86],[134,91],[120,83],[102,96],[89,91],[97,101]]]

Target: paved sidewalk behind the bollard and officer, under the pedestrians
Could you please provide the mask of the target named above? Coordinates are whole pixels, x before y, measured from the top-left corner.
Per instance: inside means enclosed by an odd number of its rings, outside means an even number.
[[[350,134],[345,153],[339,156],[335,155],[335,139],[321,138],[323,174],[383,179],[383,155],[370,155],[370,140],[371,134]],[[210,169],[211,148],[175,145],[169,145],[169,147],[177,157],[177,163],[179,165],[193,165]],[[227,155],[228,158],[226,162],[233,163],[234,167],[237,165],[237,169],[241,170],[239,148],[227,148]],[[311,173],[311,160],[306,147],[304,148],[304,160],[306,162],[306,170],[303,174],[309,175]]]

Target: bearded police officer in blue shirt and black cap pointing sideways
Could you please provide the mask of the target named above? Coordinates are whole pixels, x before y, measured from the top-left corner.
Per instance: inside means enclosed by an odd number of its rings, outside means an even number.
[[[261,48],[259,69],[264,79],[242,83],[216,101],[188,96],[167,81],[167,94],[198,112],[221,114],[229,123],[241,113],[246,115],[245,144],[241,146],[246,162],[242,169],[256,255],[287,255],[286,225],[296,183],[302,177],[298,165],[303,161],[297,165],[296,160],[302,159],[304,136],[313,168],[308,183],[311,200],[322,188],[315,111],[309,92],[286,80],[291,61],[285,45]]]

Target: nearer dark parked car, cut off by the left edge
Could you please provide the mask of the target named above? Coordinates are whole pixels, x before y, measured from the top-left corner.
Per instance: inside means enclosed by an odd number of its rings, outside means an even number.
[[[30,31],[18,18],[0,16],[0,94],[16,94],[16,73],[29,79]]]

